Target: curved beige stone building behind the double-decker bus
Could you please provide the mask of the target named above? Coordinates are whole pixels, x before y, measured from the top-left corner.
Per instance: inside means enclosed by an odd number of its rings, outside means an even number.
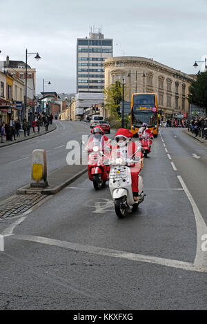
[[[105,88],[124,79],[128,92],[125,101],[136,92],[155,92],[161,120],[189,112],[188,89],[194,76],[145,57],[112,57],[103,66]]]

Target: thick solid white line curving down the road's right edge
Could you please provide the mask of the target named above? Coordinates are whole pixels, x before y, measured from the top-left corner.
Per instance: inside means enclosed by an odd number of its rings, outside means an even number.
[[[184,191],[186,192],[186,196],[188,197],[190,204],[193,207],[193,212],[195,214],[195,221],[197,226],[197,252],[195,256],[194,265],[200,266],[204,265],[207,266],[207,252],[204,252],[201,250],[201,238],[203,235],[207,234],[207,226],[206,223],[199,212],[199,209],[193,199],[193,196],[190,194],[188,188],[186,187],[186,184],[184,183],[184,180],[181,178],[181,176],[177,176],[179,179],[179,182],[181,183],[182,188],[184,188]]]

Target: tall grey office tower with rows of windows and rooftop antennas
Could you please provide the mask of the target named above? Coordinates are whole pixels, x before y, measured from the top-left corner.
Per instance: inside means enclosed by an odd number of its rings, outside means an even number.
[[[101,29],[91,28],[89,38],[77,39],[77,92],[102,92],[103,62],[110,57],[112,39],[104,39]]]

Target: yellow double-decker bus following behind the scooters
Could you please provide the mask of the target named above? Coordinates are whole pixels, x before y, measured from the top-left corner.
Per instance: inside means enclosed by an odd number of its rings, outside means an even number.
[[[131,132],[137,135],[143,123],[147,123],[154,137],[158,134],[158,106],[157,94],[134,93],[131,101]]]

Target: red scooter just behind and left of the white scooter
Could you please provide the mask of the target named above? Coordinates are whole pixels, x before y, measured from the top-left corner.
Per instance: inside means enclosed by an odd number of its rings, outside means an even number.
[[[94,146],[88,152],[90,152],[88,155],[88,177],[93,182],[95,190],[99,190],[109,180],[110,166],[104,164],[106,157],[101,154],[103,150],[99,146]]]

